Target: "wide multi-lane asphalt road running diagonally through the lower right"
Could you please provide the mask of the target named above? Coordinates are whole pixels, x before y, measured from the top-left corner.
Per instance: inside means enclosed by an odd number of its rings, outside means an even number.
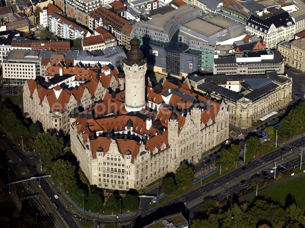
[[[231,197],[234,193],[239,193],[240,190],[251,188],[251,177],[254,174],[257,174],[257,172],[260,174],[261,171],[266,171],[268,168],[272,168],[274,162],[276,162],[277,167],[298,167],[300,166],[299,147],[303,147],[303,145],[304,142],[302,138],[290,143],[287,142],[283,147],[258,158],[250,165],[246,165],[246,170],[242,170],[242,167],[238,168],[192,192],[183,194],[178,198],[163,203],[153,209],[148,208],[147,201],[149,203],[149,200],[146,200],[145,203],[145,199],[143,199],[142,208],[145,208],[146,210],[141,211],[141,215],[136,219],[136,226],[142,227],[151,223],[155,219],[163,217],[164,215],[170,215],[177,212],[184,213],[187,218],[192,217],[202,209],[202,202],[205,198],[213,197],[222,201],[223,199],[226,199],[227,194],[228,197]],[[281,151],[282,148],[285,148],[285,150]],[[305,153],[303,153],[302,164],[305,164],[304,154]],[[283,157],[283,161],[281,156]],[[268,173],[267,175],[268,178],[274,177],[274,173]],[[260,178],[263,180],[263,177],[260,176]],[[245,180],[245,182],[241,183],[242,180]],[[214,183],[216,181],[218,181],[219,184],[215,186]],[[228,182],[229,185],[227,184]],[[229,191],[227,193],[228,186]]]

